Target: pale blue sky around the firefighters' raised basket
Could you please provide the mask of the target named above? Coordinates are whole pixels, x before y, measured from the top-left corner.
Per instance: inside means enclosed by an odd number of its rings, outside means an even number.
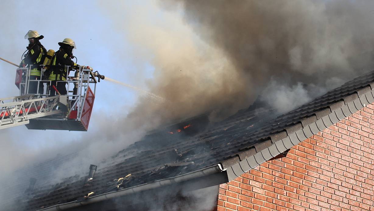
[[[101,8],[102,4],[116,4],[116,1],[1,1],[0,57],[18,64],[28,45],[24,39],[28,30],[39,31],[45,37],[41,40],[45,48],[55,51],[59,47],[57,43],[69,37],[76,42],[74,55],[78,64],[89,65],[108,77],[146,89],[145,80],[151,79],[154,68],[147,59],[142,60],[133,53],[134,46],[123,32],[126,24],[119,26],[113,22],[108,11]],[[136,4],[141,2],[121,3],[124,18],[126,11]],[[0,98],[17,96],[15,67],[1,61],[0,72],[3,78]],[[138,93],[129,88],[105,81],[99,83],[89,131],[99,130],[102,116],[125,116],[137,97]],[[85,132],[28,130],[19,126],[1,130],[0,134],[11,137],[15,146],[40,149],[80,140]]]

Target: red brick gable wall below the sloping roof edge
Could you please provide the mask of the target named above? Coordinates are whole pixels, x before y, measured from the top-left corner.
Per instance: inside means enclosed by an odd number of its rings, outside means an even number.
[[[217,210],[374,211],[374,106],[220,185]]]

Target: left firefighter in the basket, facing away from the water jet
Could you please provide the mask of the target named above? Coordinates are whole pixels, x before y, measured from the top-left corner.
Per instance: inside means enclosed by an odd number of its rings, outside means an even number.
[[[25,58],[19,64],[19,67],[30,67],[30,80],[40,80],[42,76],[42,68],[40,67],[43,64],[45,59],[46,49],[40,43],[39,40],[43,39],[44,36],[40,35],[37,31],[30,30],[25,35],[25,39],[28,39],[27,53]],[[29,94],[37,94],[38,82],[31,81],[29,84]],[[43,94],[43,83],[39,82],[39,94]]]

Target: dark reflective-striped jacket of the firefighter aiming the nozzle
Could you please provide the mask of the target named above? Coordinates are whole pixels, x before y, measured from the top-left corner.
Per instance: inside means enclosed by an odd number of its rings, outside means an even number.
[[[66,81],[66,78],[69,75],[69,73],[68,73],[68,68],[64,66],[65,65],[77,66],[77,64],[71,60],[70,56],[68,56],[68,54],[64,51],[63,48],[60,48],[58,51],[56,51],[55,55],[53,55],[52,65],[61,66],[61,67],[50,68],[48,80],[52,80],[52,81],[53,80]]]

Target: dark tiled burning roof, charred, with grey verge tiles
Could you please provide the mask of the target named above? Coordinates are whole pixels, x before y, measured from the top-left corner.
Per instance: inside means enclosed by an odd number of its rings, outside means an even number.
[[[280,116],[276,116],[273,110],[251,107],[217,123],[208,123],[207,116],[202,115],[154,131],[120,151],[116,155],[117,163],[99,168],[87,186],[83,185],[83,178],[53,186],[38,187],[36,184],[32,198],[26,200],[25,210],[74,202],[84,196],[84,200],[89,200],[108,192],[182,177],[218,163],[222,169],[226,169],[227,178],[236,178],[245,168],[248,170],[268,158],[272,159],[332,123],[373,103],[372,89],[374,72],[347,82]],[[169,132],[173,132],[173,135]],[[276,144],[282,144],[282,147]],[[123,158],[135,149],[138,151],[134,156]],[[261,158],[257,155],[261,155]]]

